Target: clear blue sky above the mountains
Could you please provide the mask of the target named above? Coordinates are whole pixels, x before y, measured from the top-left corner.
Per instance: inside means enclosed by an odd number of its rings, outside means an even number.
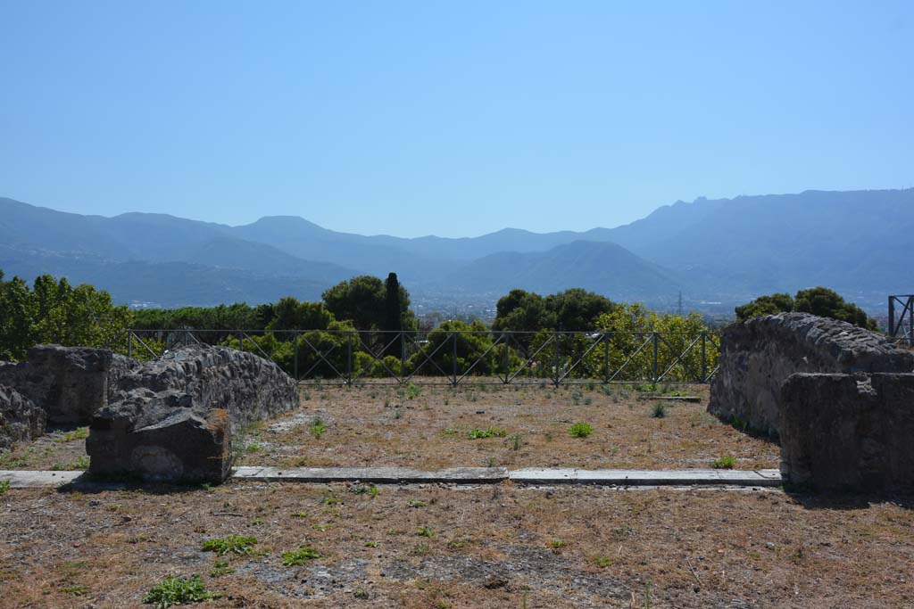
[[[914,2],[0,0],[0,196],[363,234],[914,185]]]

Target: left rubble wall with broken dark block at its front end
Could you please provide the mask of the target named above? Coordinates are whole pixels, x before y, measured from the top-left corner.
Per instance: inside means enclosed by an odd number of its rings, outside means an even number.
[[[231,437],[298,404],[297,384],[250,352],[194,345],[122,376],[96,413],[86,450],[106,476],[221,482]]]

